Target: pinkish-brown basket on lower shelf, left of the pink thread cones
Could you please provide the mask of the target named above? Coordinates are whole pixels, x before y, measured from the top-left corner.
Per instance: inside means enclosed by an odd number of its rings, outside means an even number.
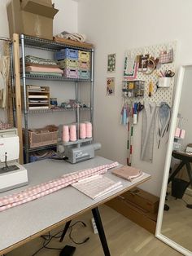
[[[57,143],[58,127],[46,126],[41,129],[28,130],[29,148],[38,148]]]

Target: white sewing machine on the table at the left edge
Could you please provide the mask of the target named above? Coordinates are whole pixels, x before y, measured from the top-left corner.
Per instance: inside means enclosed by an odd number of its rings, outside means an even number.
[[[28,172],[17,162],[19,152],[17,130],[0,130],[0,192],[28,184]]]

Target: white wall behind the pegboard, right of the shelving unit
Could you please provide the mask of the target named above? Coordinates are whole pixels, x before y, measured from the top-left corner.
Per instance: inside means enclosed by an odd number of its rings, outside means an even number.
[[[186,0],[80,0],[78,31],[95,44],[94,135],[103,157],[125,164],[127,132],[120,126],[124,51],[177,40],[177,64],[192,62],[192,2]],[[106,96],[107,54],[116,53],[116,95]],[[140,120],[141,121],[141,120]],[[133,166],[152,175],[142,188],[159,195],[167,146],[155,150],[154,163],[140,161],[141,125],[134,137]],[[155,145],[156,146],[156,145]]]

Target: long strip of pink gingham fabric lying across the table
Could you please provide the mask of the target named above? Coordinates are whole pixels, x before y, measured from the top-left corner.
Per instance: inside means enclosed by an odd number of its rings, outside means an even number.
[[[27,188],[24,191],[0,197],[0,211],[7,210],[11,207],[33,201],[42,196],[49,195],[61,188],[65,188],[72,183],[76,183],[80,179],[85,179],[95,174],[104,174],[107,170],[118,166],[118,162],[113,162],[110,165],[97,166],[90,169],[80,170],[72,174],[64,174],[58,179],[50,180],[46,183],[41,183],[37,186]]]

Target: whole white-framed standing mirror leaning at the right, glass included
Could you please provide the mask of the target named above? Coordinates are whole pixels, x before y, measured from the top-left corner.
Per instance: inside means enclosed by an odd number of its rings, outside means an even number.
[[[181,66],[172,111],[156,236],[192,255],[192,64]]]

